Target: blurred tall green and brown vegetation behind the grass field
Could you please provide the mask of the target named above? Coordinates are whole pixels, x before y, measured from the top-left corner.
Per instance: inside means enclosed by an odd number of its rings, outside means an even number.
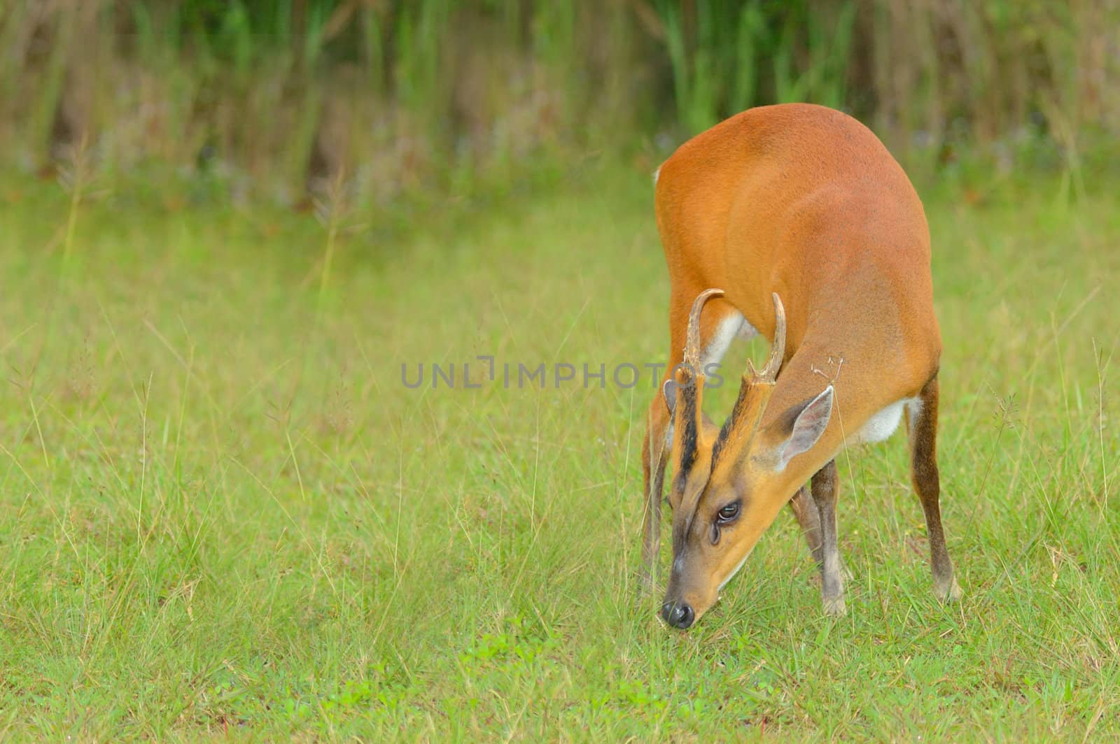
[[[1120,0],[0,0],[0,156],[172,166],[235,198],[652,170],[753,105],[870,124],[911,168],[1076,175],[1120,134]],[[519,176],[520,175],[520,176]],[[1075,181],[1076,179],[1074,179]]]

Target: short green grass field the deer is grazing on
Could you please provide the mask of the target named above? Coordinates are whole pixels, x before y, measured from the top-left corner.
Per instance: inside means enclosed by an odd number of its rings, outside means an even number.
[[[925,190],[963,601],[896,436],[839,463],[846,618],[783,514],[680,633],[635,600],[653,383],[610,380],[666,352],[646,172],[333,236],[4,182],[0,737],[1116,738],[1114,187]]]

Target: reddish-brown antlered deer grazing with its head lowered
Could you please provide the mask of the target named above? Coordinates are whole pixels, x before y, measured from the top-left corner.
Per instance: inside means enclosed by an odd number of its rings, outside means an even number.
[[[930,229],[898,162],[824,106],[747,110],[682,144],[654,175],[670,276],[670,356],[643,444],[642,585],[652,590],[672,467],[672,566],[661,605],[692,627],[788,505],[846,613],[837,456],[906,421],[936,597],[960,599],[936,460],[941,331]],[[704,382],[735,339],[771,340],[722,426]]]

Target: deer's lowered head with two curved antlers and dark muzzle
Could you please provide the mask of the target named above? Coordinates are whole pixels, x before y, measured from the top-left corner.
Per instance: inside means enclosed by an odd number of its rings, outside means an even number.
[[[661,615],[674,628],[692,625],[743,566],[763,530],[799,486],[783,478],[786,464],[811,449],[832,413],[832,386],[762,426],[785,355],[785,310],[774,294],[775,330],[766,366],[748,362],[739,398],[722,428],[701,412],[700,312],[692,304],[684,361],[663,388],[673,421],[673,565]],[[786,493],[785,491],[790,492]]]

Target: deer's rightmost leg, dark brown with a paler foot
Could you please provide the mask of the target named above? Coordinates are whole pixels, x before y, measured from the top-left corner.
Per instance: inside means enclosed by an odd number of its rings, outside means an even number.
[[[925,512],[925,530],[930,537],[930,567],[933,592],[943,602],[961,596],[953,577],[953,562],[945,549],[945,533],[941,527],[941,480],[937,474],[937,378],[934,377],[918,394],[917,402],[907,406],[909,430],[911,477],[914,490]]]

